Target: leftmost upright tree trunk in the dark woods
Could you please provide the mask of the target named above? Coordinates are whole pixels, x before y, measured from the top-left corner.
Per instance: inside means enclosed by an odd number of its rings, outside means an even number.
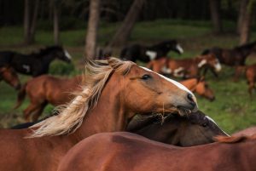
[[[24,4],[24,41],[27,44],[30,36],[30,0],[25,0]]]

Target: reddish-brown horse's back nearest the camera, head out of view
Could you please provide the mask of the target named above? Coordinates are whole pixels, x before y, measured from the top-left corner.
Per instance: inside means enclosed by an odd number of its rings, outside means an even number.
[[[178,147],[127,132],[95,134],[62,158],[57,171],[252,171],[256,135],[218,136],[218,142]]]

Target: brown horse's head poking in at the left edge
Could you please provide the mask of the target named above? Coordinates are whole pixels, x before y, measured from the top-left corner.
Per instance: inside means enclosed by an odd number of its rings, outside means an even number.
[[[2,66],[0,67],[0,81],[5,81],[10,86],[14,87],[15,89],[20,89],[20,79],[15,72],[15,70],[10,66]]]

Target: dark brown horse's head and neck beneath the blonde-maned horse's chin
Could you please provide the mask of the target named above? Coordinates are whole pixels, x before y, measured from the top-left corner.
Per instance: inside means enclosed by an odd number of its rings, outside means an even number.
[[[126,131],[143,135],[149,140],[177,146],[208,144],[214,142],[213,137],[217,135],[227,135],[211,117],[201,111],[192,112],[187,117],[139,115],[131,120]]]

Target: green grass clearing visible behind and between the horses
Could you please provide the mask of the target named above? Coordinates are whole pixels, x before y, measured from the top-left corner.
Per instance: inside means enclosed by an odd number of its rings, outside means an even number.
[[[100,26],[100,44],[108,42],[119,24],[102,24]],[[183,20],[155,20],[151,22],[137,23],[131,34],[129,43],[156,43],[167,38],[176,38],[183,46],[185,53],[178,55],[170,53],[173,58],[189,58],[200,54],[205,48],[219,46],[231,48],[238,44],[236,34],[230,33],[236,24],[224,22],[226,33],[216,36],[211,33],[211,25],[206,21],[183,21]],[[79,72],[78,63],[82,58],[84,49],[85,30],[61,31],[61,43],[73,55],[73,66],[68,66],[61,61],[55,61],[50,66],[51,74],[74,75]],[[36,44],[32,46],[22,45],[21,27],[0,28],[0,50],[12,49],[22,53],[29,53],[32,50],[50,45],[53,43],[52,32],[38,31]],[[256,32],[253,32],[251,40],[256,40]],[[250,56],[247,64],[256,63],[256,54]],[[224,67],[220,77],[212,77],[209,73],[207,81],[213,89],[216,100],[209,102],[198,97],[201,111],[207,113],[217,121],[221,128],[228,133],[233,133],[241,128],[256,125],[256,94],[254,100],[250,100],[247,94],[247,83],[242,77],[239,82],[232,81],[233,69]],[[20,76],[22,83],[29,77]],[[6,83],[0,83],[0,125],[7,128],[10,125],[23,122],[22,110],[26,108],[28,100],[18,110],[13,110],[16,93]],[[52,106],[47,106],[44,116],[50,113]]]

